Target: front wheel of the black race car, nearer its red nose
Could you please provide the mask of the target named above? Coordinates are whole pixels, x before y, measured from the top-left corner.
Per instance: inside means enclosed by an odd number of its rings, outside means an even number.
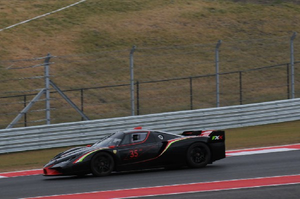
[[[106,152],[96,153],[90,161],[91,173],[94,176],[102,177],[109,175],[114,168],[114,161]]]

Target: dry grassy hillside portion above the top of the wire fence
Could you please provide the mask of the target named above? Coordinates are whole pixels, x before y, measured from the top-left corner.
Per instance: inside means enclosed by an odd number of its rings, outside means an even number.
[[[0,3],[0,27],[77,0]],[[298,0],[86,0],[0,32],[0,59],[291,35]]]

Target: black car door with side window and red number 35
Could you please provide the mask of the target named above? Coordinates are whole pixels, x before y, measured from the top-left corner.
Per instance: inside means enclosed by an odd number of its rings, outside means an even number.
[[[151,131],[130,132],[124,135],[118,147],[121,164],[152,165],[158,154],[158,144]]]

